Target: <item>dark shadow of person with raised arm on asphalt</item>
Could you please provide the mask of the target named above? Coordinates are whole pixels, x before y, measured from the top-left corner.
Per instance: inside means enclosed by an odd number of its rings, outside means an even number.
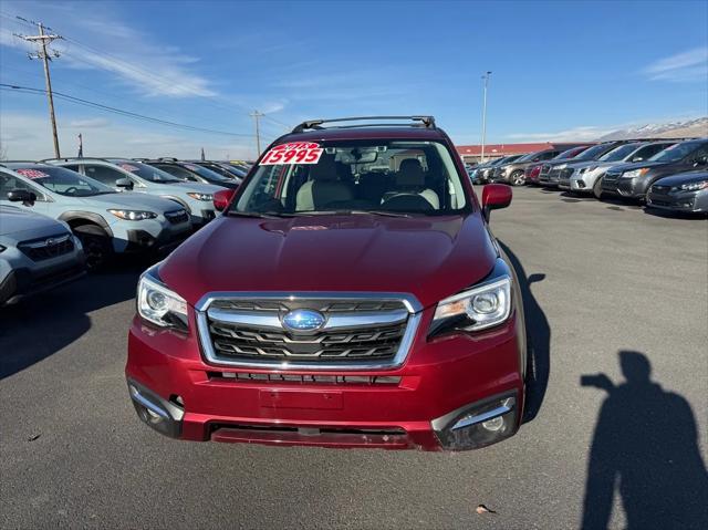
[[[626,528],[708,528],[708,475],[688,402],[650,381],[639,352],[621,351],[626,380],[584,375],[582,386],[607,392],[590,450],[584,530],[607,528],[615,486]]]

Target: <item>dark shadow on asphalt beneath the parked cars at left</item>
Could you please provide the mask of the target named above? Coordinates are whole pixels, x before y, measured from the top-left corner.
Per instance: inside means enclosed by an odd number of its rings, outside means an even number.
[[[81,337],[91,329],[87,313],[134,298],[145,267],[121,259],[105,271],[0,309],[0,380]]]

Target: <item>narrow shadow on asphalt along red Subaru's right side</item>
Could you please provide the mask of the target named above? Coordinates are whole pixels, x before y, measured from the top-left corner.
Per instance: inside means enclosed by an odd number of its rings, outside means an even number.
[[[531,422],[539,414],[551,374],[551,326],[545,313],[531,292],[531,284],[543,281],[545,274],[527,276],[519,258],[503,242],[498,241],[511,264],[517,271],[523,312],[527,324],[527,401],[523,411],[523,422]]]

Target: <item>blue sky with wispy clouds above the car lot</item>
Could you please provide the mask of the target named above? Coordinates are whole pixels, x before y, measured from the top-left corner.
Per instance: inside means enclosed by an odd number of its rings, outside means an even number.
[[[267,139],[312,117],[434,114],[479,143],[480,75],[493,72],[488,142],[590,139],[708,114],[708,3],[187,2],[0,4],[0,82],[43,87],[15,15],[66,38],[54,90],[226,136],[56,102],[74,154],[249,156],[253,108]],[[9,157],[51,155],[46,102],[0,92]],[[242,135],[242,136],[236,136]]]

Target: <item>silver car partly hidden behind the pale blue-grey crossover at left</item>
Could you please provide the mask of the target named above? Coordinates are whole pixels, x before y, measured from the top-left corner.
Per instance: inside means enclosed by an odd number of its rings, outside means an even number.
[[[116,190],[156,195],[179,202],[199,228],[216,217],[214,194],[220,186],[185,183],[156,167],[127,158],[61,158],[45,160],[98,180]]]

